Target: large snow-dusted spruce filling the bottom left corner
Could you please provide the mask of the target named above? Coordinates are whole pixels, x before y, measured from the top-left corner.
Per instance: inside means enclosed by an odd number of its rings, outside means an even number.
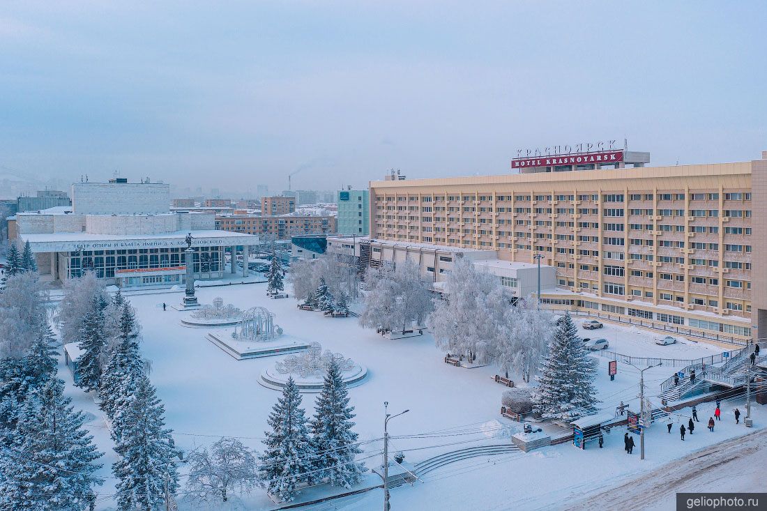
[[[18,434],[0,457],[0,508],[82,511],[94,504],[92,486],[103,481],[91,474],[102,454],[82,429],[84,414],[70,403],[56,377],[25,401]]]

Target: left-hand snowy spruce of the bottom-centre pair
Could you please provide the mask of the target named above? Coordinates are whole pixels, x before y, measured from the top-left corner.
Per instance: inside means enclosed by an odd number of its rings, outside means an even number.
[[[272,407],[266,431],[266,449],[258,460],[261,466],[258,476],[266,484],[268,492],[281,502],[288,502],[298,495],[296,487],[311,483],[314,449],[308,434],[308,421],[301,408],[301,394],[293,377],[282,391],[282,397]]]

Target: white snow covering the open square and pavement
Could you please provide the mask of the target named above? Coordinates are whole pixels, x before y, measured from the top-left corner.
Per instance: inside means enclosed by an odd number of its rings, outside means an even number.
[[[369,371],[366,383],[351,388],[349,395],[350,404],[356,407],[354,420],[359,440],[369,441],[361,447],[363,457],[372,456],[366,460],[370,468],[380,463],[382,443],[376,439],[383,435],[384,401],[389,401],[393,414],[410,409],[409,413],[389,423],[389,432],[393,435],[390,452],[403,450],[407,461],[413,464],[482,442],[508,442],[508,439],[497,436],[490,438],[489,434],[497,427],[495,423],[511,430],[519,427],[518,423],[500,417],[501,396],[506,387],[495,384],[491,378],[498,370],[488,366],[461,371],[445,364],[428,333],[416,338],[383,338],[374,330],[360,328],[355,318],[326,318],[298,310],[293,299],[270,300],[265,295],[265,284],[199,288],[197,295],[200,302],[211,302],[221,296],[225,302],[243,310],[254,306],[268,307],[275,313],[275,321],[285,329],[286,335],[318,341],[323,348],[341,352],[366,365]],[[262,451],[266,418],[281,394],[262,387],[257,379],[265,368],[273,367],[278,358],[235,360],[207,341],[204,329],[180,325],[180,319],[186,313],[170,308],[163,312],[161,307],[158,308],[163,301],[173,302],[173,296],[154,293],[126,295],[126,298],[137,309],[137,319],[142,326],[143,355],[152,362],[150,377],[165,404],[167,424],[175,430],[176,445],[183,450],[209,447],[222,436],[229,436],[240,437],[247,447]],[[681,337],[677,337],[680,343],[676,345],[658,346],[654,344],[657,332],[619,325],[605,324],[601,330],[584,331],[580,322],[577,321],[578,335],[607,338],[611,350],[632,356],[698,358],[721,351]],[[597,358],[597,361],[595,386],[597,398],[602,401],[599,406],[606,410],[604,413],[609,414],[620,401],[630,404],[631,410],[637,408],[638,371],[619,363],[618,374],[614,381],[610,381],[607,359]],[[107,477],[104,486],[96,491],[101,495],[113,494],[116,481],[111,478],[109,467],[117,456],[112,450],[103,414],[91,397],[72,386],[71,375],[63,364],[59,371],[59,376],[67,382],[66,392],[73,397],[74,406],[96,417],[87,427],[94,434],[94,443],[106,453],[100,460],[104,468],[97,475]],[[661,367],[645,372],[647,394],[655,404],[659,384],[670,371],[673,370]],[[514,380],[521,381],[518,377]],[[303,404],[307,415],[313,414],[314,396],[305,394]],[[742,404],[738,405],[744,410]],[[693,450],[748,433],[750,430],[734,424],[731,417],[734,406],[736,404],[728,404],[723,410],[725,420],[717,424],[715,433],[700,427],[685,442],[680,441],[676,430],[667,434],[663,424],[650,427],[647,430],[647,460],[643,463],[639,462],[638,441],[634,454],[627,458],[621,442],[624,429],[619,428],[605,435],[603,450],[594,443],[589,443],[586,450],[565,443],[532,453],[472,458],[444,466],[426,474],[424,483],[392,490],[392,506],[393,509],[550,509],[563,506],[569,499],[580,499],[588,492],[604,490]],[[698,410],[701,420],[707,420],[713,414],[713,404],[700,405]],[[757,426],[767,423],[765,412],[767,410],[761,407],[754,408]],[[544,429],[547,436],[557,430],[551,424],[545,424]],[[471,433],[467,434],[466,430]],[[437,431],[446,436],[398,438]],[[180,471],[184,473],[183,467]],[[183,477],[181,482],[183,489]],[[456,491],[456,487],[461,490]],[[308,490],[304,496],[319,496],[319,491]],[[274,507],[263,490],[230,500],[231,509]],[[333,506],[374,509],[380,505],[380,500],[380,490],[373,490],[353,499],[341,499]],[[108,497],[100,499],[97,509],[114,509],[114,501]],[[181,509],[193,508],[183,504]]]

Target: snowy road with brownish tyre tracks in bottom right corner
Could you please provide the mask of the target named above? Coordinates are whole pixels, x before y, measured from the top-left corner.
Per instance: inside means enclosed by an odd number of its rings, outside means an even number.
[[[676,493],[764,491],[767,430],[733,438],[562,509],[676,509]]]

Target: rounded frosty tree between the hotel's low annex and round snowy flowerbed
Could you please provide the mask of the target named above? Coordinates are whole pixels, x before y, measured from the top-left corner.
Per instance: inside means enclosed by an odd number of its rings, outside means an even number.
[[[380,331],[403,331],[423,325],[433,311],[429,285],[420,278],[418,266],[410,261],[396,269],[373,269],[367,274],[360,325]]]

